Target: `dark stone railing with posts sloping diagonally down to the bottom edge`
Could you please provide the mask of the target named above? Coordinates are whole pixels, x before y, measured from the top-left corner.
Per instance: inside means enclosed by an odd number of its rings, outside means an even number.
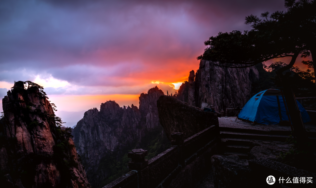
[[[220,139],[216,126],[183,140],[182,133],[171,135],[173,146],[150,160],[147,150],[132,150],[130,172],[103,188],[194,187],[211,170],[210,157],[218,153]]]

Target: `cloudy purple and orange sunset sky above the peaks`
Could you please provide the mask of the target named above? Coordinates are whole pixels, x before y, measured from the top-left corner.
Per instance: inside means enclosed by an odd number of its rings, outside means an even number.
[[[30,80],[60,111],[138,106],[155,85],[174,93],[188,80],[210,36],[250,30],[247,15],[276,10],[283,0],[2,0],[0,97]]]

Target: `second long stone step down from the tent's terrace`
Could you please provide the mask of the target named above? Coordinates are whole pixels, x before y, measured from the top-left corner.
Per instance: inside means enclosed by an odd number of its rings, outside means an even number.
[[[231,131],[220,131],[221,138],[243,138],[243,139],[256,139],[256,140],[271,140],[285,142],[289,136],[285,135],[270,135],[270,134],[253,134],[253,133],[240,133]]]

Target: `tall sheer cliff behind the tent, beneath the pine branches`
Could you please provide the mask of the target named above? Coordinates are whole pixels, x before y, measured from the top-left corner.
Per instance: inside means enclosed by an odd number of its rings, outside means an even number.
[[[202,60],[195,75],[191,71],[189,81],[180,86],[177,98],[199,108],[213,107],[215,111],[243,107],[251,97],[252,82],[258,78],[255,67],[223,68]]]

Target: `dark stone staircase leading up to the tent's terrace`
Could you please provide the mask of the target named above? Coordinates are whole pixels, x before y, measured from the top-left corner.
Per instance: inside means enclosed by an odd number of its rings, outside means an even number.
[[[242,129],[232,127],[220,127],[220,138],[225,146],[222,155],[238,155],[240,159],[249,159],[253,142],[278,141],[284,143],[291,131],[257,129]],[[316,143],[316,133],[307,132],[307,136]]]

